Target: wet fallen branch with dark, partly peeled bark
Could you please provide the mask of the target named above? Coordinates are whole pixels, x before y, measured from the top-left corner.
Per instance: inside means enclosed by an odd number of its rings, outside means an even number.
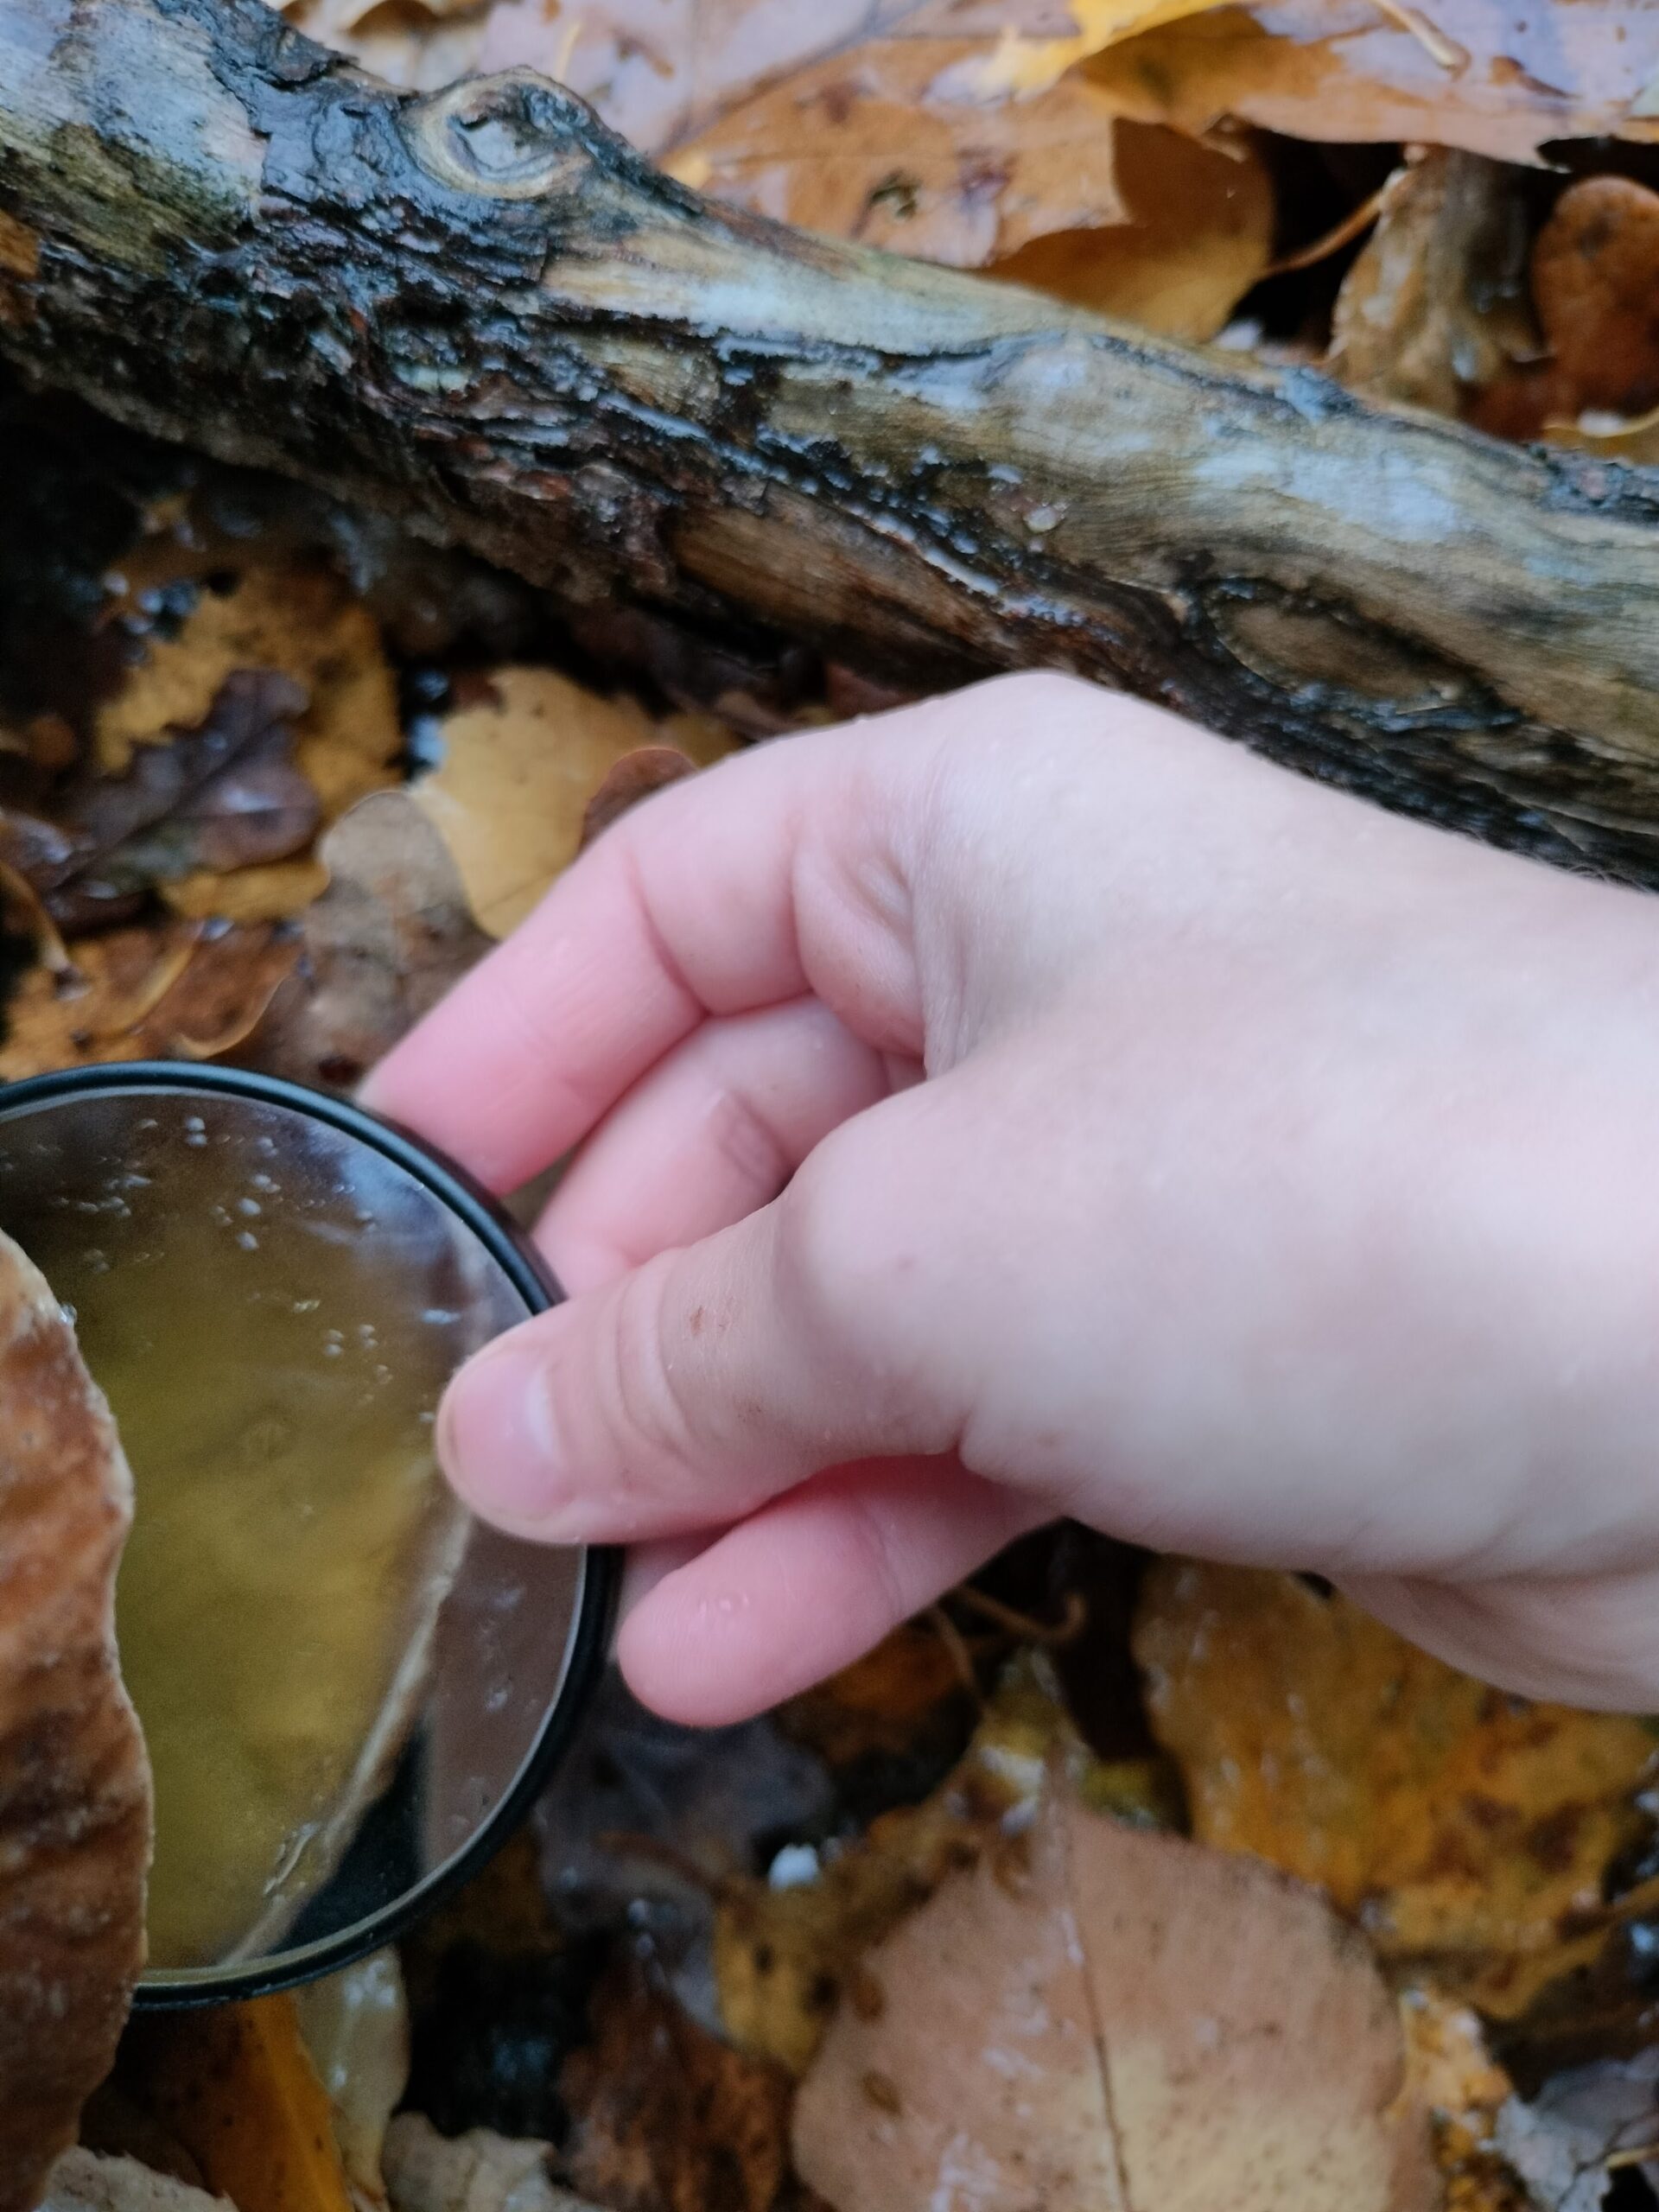
[[[1077,668],[1659,885],[1659,476],[754,221],[524,71],[0,0],[0,352],[571,599]]]

